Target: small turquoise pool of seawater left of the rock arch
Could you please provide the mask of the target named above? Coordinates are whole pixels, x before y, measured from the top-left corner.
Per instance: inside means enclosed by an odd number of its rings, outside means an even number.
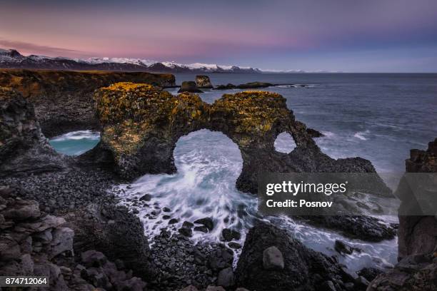
[[[99,131],[71,131],[49,139],[50,145],[64,155],[81,155],[93,149],[100,141]]]

